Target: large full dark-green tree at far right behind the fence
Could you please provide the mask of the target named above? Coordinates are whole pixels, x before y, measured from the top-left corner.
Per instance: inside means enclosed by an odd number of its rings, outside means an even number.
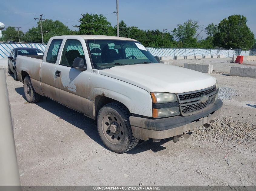
[[[213,43],[227,49],[251,49],[255,43],[254,34],[247,26],[247,18],[243,15],[231,15],[218,25]]]

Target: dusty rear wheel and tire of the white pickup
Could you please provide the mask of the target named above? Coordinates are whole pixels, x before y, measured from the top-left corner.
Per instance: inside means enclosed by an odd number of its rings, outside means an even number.
[[[24,78],[23,87],[26,100],[29,103],[36,103],[40,100],[41,96],[35,92],[29,76]]]

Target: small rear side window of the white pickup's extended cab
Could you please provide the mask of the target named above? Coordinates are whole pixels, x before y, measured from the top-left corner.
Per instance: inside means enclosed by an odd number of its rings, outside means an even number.
[[[46,55],[46,62],[56,63],[62,39],[52,40]]]

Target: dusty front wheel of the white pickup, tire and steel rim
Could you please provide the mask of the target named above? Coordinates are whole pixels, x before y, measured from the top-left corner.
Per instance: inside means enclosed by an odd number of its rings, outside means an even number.
[[[129,111],[120,103],[108,103],[98,113],[97,129],[101,141],[116,153],[125,153],[139,142],[132,134],[129,117]]]

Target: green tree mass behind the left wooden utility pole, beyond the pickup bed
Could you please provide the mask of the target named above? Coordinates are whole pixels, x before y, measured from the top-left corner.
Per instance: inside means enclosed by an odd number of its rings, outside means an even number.
[[[74,31],[68,29],[68,26],[64,25],[62,22],[56,20],[46,19],[42,21],[43,37],[44,43],[47,43],[51,37],[60,36],[60,35],[69,35]],[[41,27],[40,21],[37,22],[37,27],[32,27],[24,35],[23,40],[26,42],[42,42]]]

